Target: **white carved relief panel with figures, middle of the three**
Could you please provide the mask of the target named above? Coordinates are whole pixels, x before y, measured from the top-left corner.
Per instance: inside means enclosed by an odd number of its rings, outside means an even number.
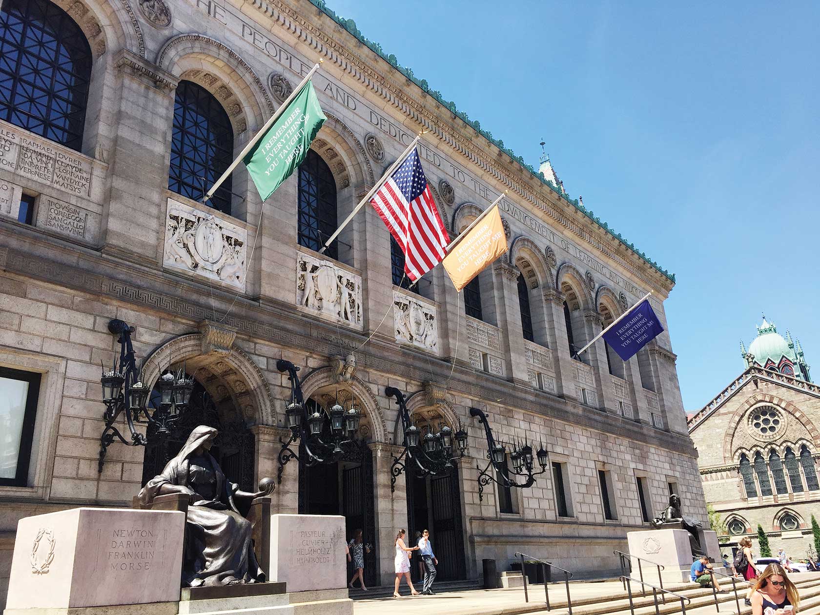
[[[329,321],[362,329],[362,276],[299,253],[296,261],[296,305]]]

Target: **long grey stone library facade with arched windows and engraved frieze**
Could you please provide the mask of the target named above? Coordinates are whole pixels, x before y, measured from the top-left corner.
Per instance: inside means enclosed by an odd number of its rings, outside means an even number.
[[[110,369],[120,348],[112,319],[134,326],[146,382],[168,367],[194,376],[199,413],[180,424],[220,427],[223,466],[249,488],[280,471],[289,433],[278,359],[301,368],[306,399],[362,408],[358,456],[291,461],[273,498],[280,512],[342,512],[362,527],[375,546],[371,583],[392,576],[401,527],[430,526],[442,576],[476,578],[482,558],[503,568],[517,550],[578,574],[611,571],[626,531],[645,527],[670,490],[706,520],[668,333],[626,363],[603,340],[581,361],[570,351],[649,290],[668,330],[673,277],[352,22],[307,0],[4,0],[2,17],[11,43],[48,30],[75,55],[52,66],[70,95],[58,80],[34,84],[42,91],[17,92],[0,118],[0,383],[20,400],[3,417],[0,587],[19,518],[129,505],[168,453],[115,441],[98,472],[101,364]],[[30,48],[55,62],[48,46]],[[310,168],[262,207],[240,165],[215,207],[203,205],[197,190],[216,163],[320,59],[328,121]],[[7,70],[34,80],[20,62]],[[36,117],[38,96],[53,103],[48,121]],[[473,287],[480,317],[440,267],[417,292],[404,288],[370,207],[332,256],[316,251],[329,220],[314,214],[330,203],[343,220],[421,130],[451,235],[508,190],[510,249]],[[420,426],[467,426],[458,471],[403,474],[391,490],[403,435],[387,386],[408,395]],[[486,443],[471,407],[499,440],[543,442],[549,465],[534,486],[480,494]]]

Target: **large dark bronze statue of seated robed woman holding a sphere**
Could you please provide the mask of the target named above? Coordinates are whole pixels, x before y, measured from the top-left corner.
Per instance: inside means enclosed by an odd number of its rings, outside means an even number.
[[[183,587],[265,581],[253,553],[251,523],[239,514],[234,500],[253,499],[268,492],[242,491],[225,478],[208,452],[217,433],[212,427],[196,427],[180,453],[166,464],[162,474],[148,481],[138,496],[143,505],[158,495],[185,494],[190,498]]]

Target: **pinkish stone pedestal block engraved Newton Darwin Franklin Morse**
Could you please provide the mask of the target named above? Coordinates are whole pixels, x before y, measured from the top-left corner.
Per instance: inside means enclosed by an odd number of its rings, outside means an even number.
[[[184,535],[185,513],[174,511],[73,508],[21,519],[5,613],[176,603]]]

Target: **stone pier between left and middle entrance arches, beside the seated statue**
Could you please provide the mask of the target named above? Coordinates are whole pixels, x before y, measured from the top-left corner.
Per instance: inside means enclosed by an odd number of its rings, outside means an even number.
[[[279,452],[282,448],[280,439],[285,442],[290,437],[290,430],[269,425],[254,425],[251,427],[256,438],[256,481],[271,477],[277,480],[279,472]],[[298,453],[298,444],[291,444],[294,453]],[[299,460],[291,459],[285,465],[277,482],[276,490],[271,494],[273,512],[282,514],[298,514],[299,512]]]

